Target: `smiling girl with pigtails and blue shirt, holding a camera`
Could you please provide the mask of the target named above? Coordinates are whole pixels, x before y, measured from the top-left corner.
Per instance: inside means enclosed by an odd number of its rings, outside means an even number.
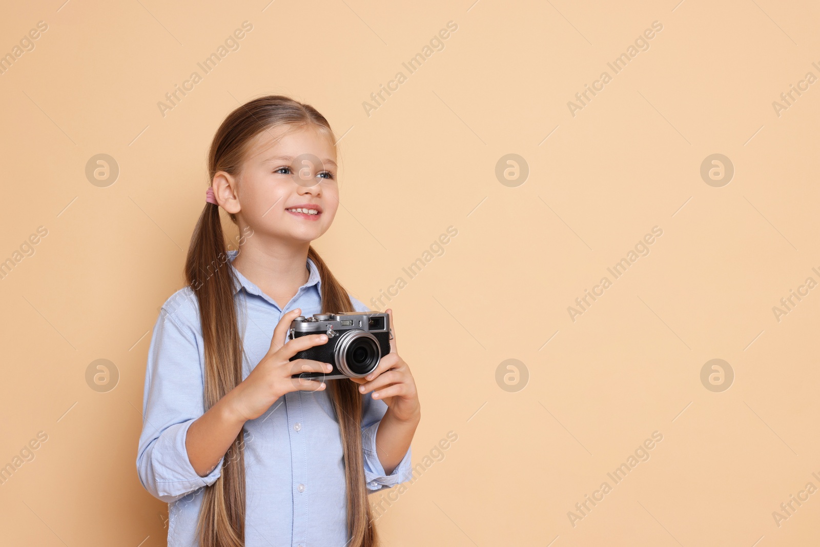
[[[335,159],[325,117],[287,97],[216,131],[188,286],[162,307],[145,373],[137,469],[169,503],[169,547],[373,547],[368,493],[411,478],[421,407],[395,328],[366,378],[291,377],[330,372],[289,360],[327,342],[286,341],[294,318],[370,311],[311,247],[339,207]],[[225,252],[220,207],[238,250]]]

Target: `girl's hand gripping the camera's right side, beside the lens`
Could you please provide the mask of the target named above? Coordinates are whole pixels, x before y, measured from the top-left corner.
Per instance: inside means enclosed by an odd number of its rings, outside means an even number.
[[[418,402],[416,381],[413,380],[408,363],[396,353],[396,326],[393,322],[393,310],[386,310],[390,317],[390,328],[393,338],[390,340],[390,353],[380,359],[376,369],[364,378],[350,378],[359,385],[359,393],[373,391],[373,399],[382,399],[390,413],[403,422],[410,422],[421,417],[421,405]],[[374,391],[375,390],[375,391]]]

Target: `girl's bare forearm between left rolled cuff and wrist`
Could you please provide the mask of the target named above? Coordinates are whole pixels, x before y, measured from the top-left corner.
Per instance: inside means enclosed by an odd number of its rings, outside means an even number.
[[[235,413],[229,392],[188,428],[185,449],[198,476],[212,472],[239,435],[244,419]]]

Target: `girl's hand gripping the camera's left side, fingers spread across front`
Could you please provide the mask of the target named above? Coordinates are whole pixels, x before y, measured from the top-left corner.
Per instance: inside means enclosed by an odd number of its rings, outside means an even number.
[[[271,348],[265,357],[244,381],[230,390],[228,395],[231,398],[231,407],[240,419],[248,421],[262,416],[276,399],[291,391],[325,389],[325,382],[291,377],[300,372],[328,373],[333,370],[327,362],[310,359],[289,360],[304,349],[327,342],[327,336],[322,334],[299,336],[285,344],[290,323],[301,312],[302,310],[296,308],[281,317],[276,329],[273,330]]]

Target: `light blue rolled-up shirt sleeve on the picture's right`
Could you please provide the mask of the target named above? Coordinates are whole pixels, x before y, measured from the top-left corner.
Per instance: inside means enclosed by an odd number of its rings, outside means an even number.
[[[356,312],[371,312],[358,299],[350,296],[353,309]],[[409,481],[412,478],[410,458],[412,449],[408,451],[399,462],[399,465],[392,473],[387,475],[385,467],[381,465],[379,454],[376,453],[376,431],[379,430],[381,418],[387,412],[387,403],[380,399],[373,399],[371,394],[362,395],[362,450],[364,451],[364,477],[367,483],[367,490],[377,492],[398,485],[401,482]]]

